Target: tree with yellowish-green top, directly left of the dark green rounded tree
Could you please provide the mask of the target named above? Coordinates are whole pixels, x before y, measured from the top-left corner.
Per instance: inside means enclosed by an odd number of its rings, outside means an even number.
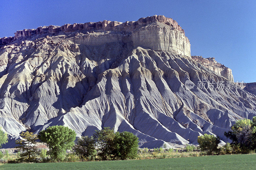
[[[103,160],[110,159],[115,147],[114,129],[110,129],[109,127],[104,127],[101,130],[96,130],[95,133],[93,134],[93,138],[97,144],[97,148],[99,151],[98,155],[101,157],[101,159]]]

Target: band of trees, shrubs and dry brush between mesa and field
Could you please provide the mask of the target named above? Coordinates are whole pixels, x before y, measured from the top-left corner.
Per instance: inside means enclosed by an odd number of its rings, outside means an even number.
[[[7,142],[7,135],[0,129],[0,144]],[[237,121],[225,136],[232,142],[220,146],[220,138],[211,134],[198,136],[198,146],[187,144],[185,148],[139,148],[138,137],[130,132],[115,132],[105,127],[96,130],[92,137],[76,139],[74,130],[64,126],[52,126],[39,132],[22,132],[16,140],[16,153],[0,152],[2,163],[20,162],[80,162],[125,159],[164,159],[254,153],[256,146],[256,117]],[[39,150],[41,141],[49,148]]]

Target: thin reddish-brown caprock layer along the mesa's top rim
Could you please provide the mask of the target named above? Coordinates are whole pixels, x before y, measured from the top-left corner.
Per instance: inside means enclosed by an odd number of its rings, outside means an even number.
[[[167,18],[163,15],[155,15],[146,18],[140,18],[138,21],[126,21],[124,23],[117,22],[117,21],[99,21],[99,22],[87,22],[84,24],[65,24],[63,26],[40,26],[36,29],[24,29],[17,31],[14,33],[14,37],[3,37],[0,38],[0,46],[6,45],[20,37],[28,37],[34,34],[43,34],[43,33],[59,33],[60,31],[63,32],[73,32],[77,30],[108,30],[108,31],[125,31],[125,32],[132,32],[132,30],[139,28],[141,26],[146,26],[152,22],[161,22],[165,23],[173,28],[181,31],[185,34],[184,30],[178,25],[178,23],[173,20],[172,18]]]

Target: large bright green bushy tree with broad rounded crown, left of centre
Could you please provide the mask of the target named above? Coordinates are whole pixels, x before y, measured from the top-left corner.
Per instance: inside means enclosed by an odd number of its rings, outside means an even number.
[[[67,149],[74,146],[76,132],[65,126],[52,126],[39,132],[38,137],[49,147],[52,159],[62,160]]]

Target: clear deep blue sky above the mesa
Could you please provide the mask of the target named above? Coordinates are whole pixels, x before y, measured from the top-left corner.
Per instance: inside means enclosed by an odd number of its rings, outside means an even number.
[[[136,21],[164,15],[190,40],[191,55],[215,57],[235,81],[256,82],[256,1],[0,0],[0,37],[38,26]]]

